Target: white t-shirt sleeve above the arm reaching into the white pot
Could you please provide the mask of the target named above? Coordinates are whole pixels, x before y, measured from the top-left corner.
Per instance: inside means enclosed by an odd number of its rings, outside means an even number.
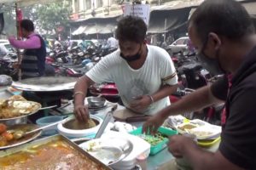
[[[90,77],[93,82],[102,83],[113,81],[111,71],[114,67],[113,54],[103,57],[90,71],[85,75]]]

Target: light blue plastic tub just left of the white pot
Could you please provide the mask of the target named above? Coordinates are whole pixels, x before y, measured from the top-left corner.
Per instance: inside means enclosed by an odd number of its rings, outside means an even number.
[[[50,123],[59,122],[63,120],[63,116],[44,116],[39,118],[36,122],[40,127],[49,125]],[[58,133],[57,124],[52,127],[47,127],[43,130],[42,135],[49,136]]]

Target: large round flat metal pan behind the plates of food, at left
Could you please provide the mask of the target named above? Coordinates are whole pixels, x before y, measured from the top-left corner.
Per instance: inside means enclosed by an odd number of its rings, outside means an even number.
[[[74,88],[75,77],[35,77],[13,82],[12,87],[32,92],[52,92]]]

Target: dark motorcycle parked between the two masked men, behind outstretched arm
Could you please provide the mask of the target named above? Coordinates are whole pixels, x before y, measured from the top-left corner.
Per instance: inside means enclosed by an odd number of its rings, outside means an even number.
[[[171,102],[177,102],[183,96],[192,93],[197,88],[207,86],[218,80],[219,77],[212,77],[212,75],[203,68],[196,56],[184,56],[183,54],[175,54],[174,62],[177,69],[178,89],[177,92],[170,96]],[[220,115],[223,105],[212,105],[200,112],[201,114],[187,113],[189,119],[199,118],[201,120],[211,122],[212,124],[220,123]]]

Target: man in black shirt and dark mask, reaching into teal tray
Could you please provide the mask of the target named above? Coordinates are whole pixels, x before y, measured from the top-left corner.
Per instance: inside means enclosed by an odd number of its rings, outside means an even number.
[[[189,37],[207,70],[225,76],[160,111],[143,131],[155,133],[168,116],[225,101],[215,153],[179,135],[170,138],[169,150],[194,169],[256,169],[256,37],[246,9],[234,0],[207,0],[189,20]]]

